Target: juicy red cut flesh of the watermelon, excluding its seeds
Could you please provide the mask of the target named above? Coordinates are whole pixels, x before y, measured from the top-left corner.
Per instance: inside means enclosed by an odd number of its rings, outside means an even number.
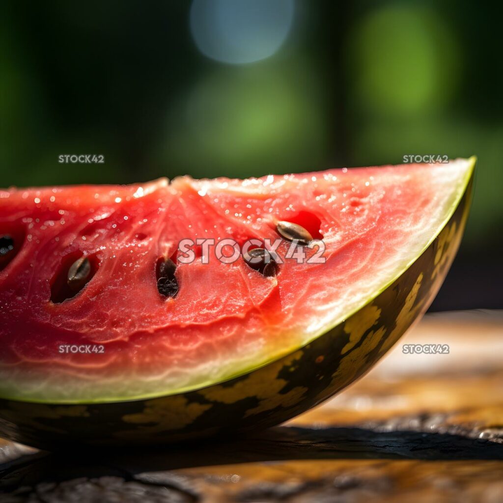
[[[0,190],[0,397],[104,402],[173,394],[241,375],[307,344],[365,305],[439,233],[471,160],[248,180]],[[178,264],[176,297],[156,264],[184,238],[279,237],[298,223],[324,264],[286,260],[265,277],[241,258]],[[284,257],[290,242],[277,250]],[[311,257],[316,247],[302,247]],[[70,264],[91,281],[65,298]],[[52,300],[51,300],[52,299]],[[87,345],[92,353],[61,353]],[[97,353],[96,351],[99,351]]]

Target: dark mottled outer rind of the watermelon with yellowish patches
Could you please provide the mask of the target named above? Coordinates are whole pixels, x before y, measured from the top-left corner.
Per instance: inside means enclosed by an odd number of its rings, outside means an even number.
[[[53,448],[159,444],[282,423],[367,372],[428,308],[456,255],[473,177],[432,244],[386,290],[309,345],[223,384],[147,400],[41,404],[0,399],[0,436]]]

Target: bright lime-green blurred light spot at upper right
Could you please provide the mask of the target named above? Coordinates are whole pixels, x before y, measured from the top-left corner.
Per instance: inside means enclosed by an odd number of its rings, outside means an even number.
[[[422,113],[454,95],[459,48],[435,11],[391,5],[353,29],[348,54],[355,99],[383,115]]]

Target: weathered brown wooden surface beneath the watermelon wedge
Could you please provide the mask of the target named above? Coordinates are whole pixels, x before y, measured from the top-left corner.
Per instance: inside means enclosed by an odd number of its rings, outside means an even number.
[[[405,355],[403,344],[449,354]],[[4,501],[503,501],[503,313],[427,316],[366,377],[255,438],[50,454],[0,443]]]

